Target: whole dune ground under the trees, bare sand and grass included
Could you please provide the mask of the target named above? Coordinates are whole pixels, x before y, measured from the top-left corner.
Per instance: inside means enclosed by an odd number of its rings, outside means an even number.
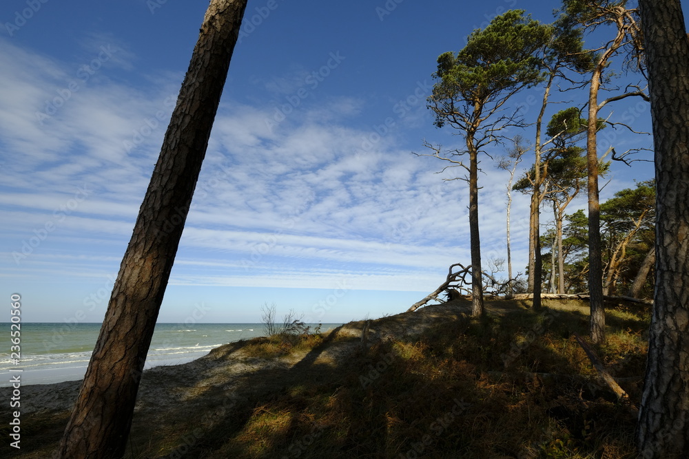
[[[127,458],[635,458],[648,306],[607,306],[594,346],[618,401],[576,343],[588,303],[457,300],[223,345],[141,380]],[[22,387],[21,451],[50,458],[80,381]],[[5,400],[8,388],[0,389]],[[7,393],[6,393],[7,392]],[[9,418],[8,407],[0,417]],[[9,438],[8,424],[0,427]]]

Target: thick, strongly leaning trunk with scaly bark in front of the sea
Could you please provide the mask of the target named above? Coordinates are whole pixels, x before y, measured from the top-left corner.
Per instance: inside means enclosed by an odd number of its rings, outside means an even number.
[[[212,0],[205,14],[59,458],[125,453],[141,372],[246,4]]]

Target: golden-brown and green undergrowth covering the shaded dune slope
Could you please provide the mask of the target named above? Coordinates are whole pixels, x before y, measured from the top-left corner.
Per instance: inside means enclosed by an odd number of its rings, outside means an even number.
[[[134,432],[130,457],[636,458],[634,408],[598,382],[573,339],[588,330],[582,310],[515,306],[483,319],[462,316],[333,365],[274,370],[263,377],[280,384],[210,427],[192,411],[174,431],[161,429],[165,438]],[[595,351],[638,404],[646,311],[609,310],[608,317],[608,339]],[[346,340],[275,335],[249,340],[243,351],[269,359],[338,341]],[[185,447],[183,434],[200,425]]]

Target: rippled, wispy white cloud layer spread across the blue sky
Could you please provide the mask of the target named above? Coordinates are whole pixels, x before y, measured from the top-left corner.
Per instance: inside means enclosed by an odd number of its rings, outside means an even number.
[[[126,71],[132,58],[124,50],[121,57],[103,65]],[[10,261],[0,274],[12,275],[12,251],[55,220],[79,186],[92,192],[16,275],[116,271],[179,76],[144,77],[155,84],[133,88],[103,71],[41,124],[36,112],[74,78],[74,69],[9,43],[0,58],[13,63],[0,69],[9,82],[0,88],[7,108],[0,111],[0,148],[3,167],[12,171],[0,196],[10,219],[0,229]],[[265,85],[289,94],[301,75]],[[364,290],[426,290],[440,284],[449,264],[468,263],[466,186],[442,182],[435,174],[440,164],[400,149],[392,129],[362,149],[371,131],[348,120],[363,104],[331,98],[271,128],[266,120],[274,107],[223,100],[171,283],[332,288],[342,278]],[[490,171],[488,161],[484,167],[490,173],[480,178],[482,244],[497,256],[504,250],[506,178]],[[515,197],[513,221],[527,211],[526,200]],[[526,241],[526,231],[513,228],[516,258],[524,255],[517,240]],[[87,264],[91,269],[83,269]]]

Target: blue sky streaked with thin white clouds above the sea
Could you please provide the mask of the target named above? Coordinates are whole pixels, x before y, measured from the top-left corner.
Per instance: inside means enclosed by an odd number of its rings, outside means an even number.
[[[424,139],[460,141],[426,109],[435,59],[495,14],[523,8],[549,22],[554,6],[249,1],[159,321],[254,322],[263,303],[307,321],[380,317],[434,290],[450,264],[468,264],[464,182],[444,182],[440,162],[411,154]],[[206,8],[0,6],[1,290],[21,294],[25,321],[102,320]],[[533,120],[539,97],[513,105]],[[611,109],[650,130],[644,103]],[[609,133],[602,151],[650,147],[648,136]],[[481,166],[487,260],[505,257],[507,174],[487,157]],[[613,164],[601,196],[648,178],[650,163]],[[515,195],[515,271],[526,265],[527,222],[528,200]]]

